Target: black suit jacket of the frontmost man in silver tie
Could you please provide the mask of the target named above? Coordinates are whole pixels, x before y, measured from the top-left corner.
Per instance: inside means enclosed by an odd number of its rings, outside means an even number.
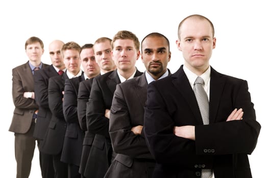
[[[197,177],[201,168],[218,177],[251,177],[248,154],[256,146],[260,125],[247,81],[211,68],[209,125],[201,113],[183,67],[148,86],[144,133],[157,161],[153,177]],[[242,121],[226,122],[234,108]],[[177,137],[174,126],[195,126],[195,141]]]

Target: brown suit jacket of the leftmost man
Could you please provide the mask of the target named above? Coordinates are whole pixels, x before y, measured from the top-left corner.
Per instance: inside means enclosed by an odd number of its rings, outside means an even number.
[[[42,68],[48,66],[42,64]],[[9,131],[26,133],[31,127],[33,114],[38,105],[32,98],[23,97],[25,92],[34,92],[34,77],[29,62],[12,69],[12,98],[15,105]]]

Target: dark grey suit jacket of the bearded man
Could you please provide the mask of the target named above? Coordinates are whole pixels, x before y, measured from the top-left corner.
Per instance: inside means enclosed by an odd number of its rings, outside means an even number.
[[[114,152],[117,154],[106,177],[151,177],[154,164],[147,167],[143,162],[155,163],[144,132],[135,135],[131,128],[144,125],[144,106],[148,82],[145,73],[116,86],[109,119],[109,134]],[[136,165],[133,165],[136,164]],[[121,166],[119,166],[121,165]],[[147,171],[144,171],[147,170]],[[139,172],[139,173],[138,173]]]

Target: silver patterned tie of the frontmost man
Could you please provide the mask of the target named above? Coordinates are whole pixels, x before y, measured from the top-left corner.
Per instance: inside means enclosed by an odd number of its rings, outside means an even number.
[[[194,82],[193,92],[195,94],[196,100],[198,102],[198,106],[200,109],[200,113],[203,119],[203,124],[209,124],[209,101],[207,94],[204,90],[205,81],[202,77],[197,77]],[[202,169],[201,178],[209,178],[212,175],[211,169]]]

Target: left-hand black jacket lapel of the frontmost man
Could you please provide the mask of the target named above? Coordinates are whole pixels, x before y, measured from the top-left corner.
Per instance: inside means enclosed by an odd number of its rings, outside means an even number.
[[[179,93],[183,96],[183,98],[185,98],[185,101],[188,103],[197,122],[200,125],[203,125],[203,120],[202,120],[202,116],[199,110],[197,100],[189,84],[189,80],[185,72],[183,71],[183,66],[181,66],[180,69],[175,74],[172,74],[172,82],[175,85],[175,87],[178,89]]]

